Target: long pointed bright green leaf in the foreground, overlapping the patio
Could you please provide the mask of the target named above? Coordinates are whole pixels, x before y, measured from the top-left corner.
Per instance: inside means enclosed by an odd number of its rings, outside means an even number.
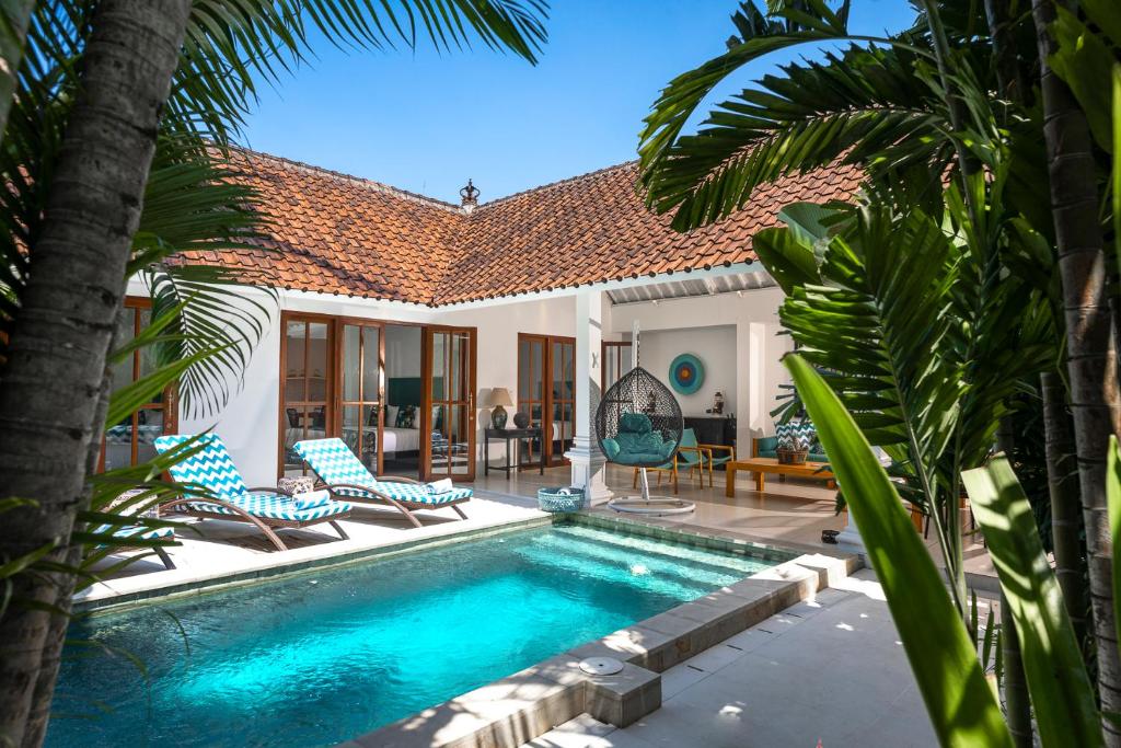
[[[817,426],[943,746],[1012,745],[974,643],[871,445],[821,375],[782,359]]]

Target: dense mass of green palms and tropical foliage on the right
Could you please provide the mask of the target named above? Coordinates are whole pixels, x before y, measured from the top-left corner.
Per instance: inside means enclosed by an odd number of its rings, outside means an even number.
[[[1011,613],[1002,637],[1010,736],[1029,745],[1035,726],[1044,745],[1121,745],[1111,717],[1121,712],[1121,658],[1105,602],[1115,602],[1118,580],[1104,525],[1106,441],[1121,428],[1121,298],[1100,271],[1117,267],[1106,240],[1121,234],[1112,168],[1121,101],[1108,93],[1121,27],[1106,0],[1076,9],[1036,0],[1034,12],[1017,0],[989,0],[983,11],[958,0],[915,4],[911,28],[871,38],[850,31],[847,1],[741,3],[728,50],[655,102],[640,178],[648,203],[688,230],[740,210],[762,184],[859,167],[864,181],[850,204],[787,206],[785,225],[757,234],[753,247],[787,295],[780,315],[799,343],[790,362],[798,401],[818,428],[830,417],[845,423],[832,444],[822,441],[880,576],[928,573],[905,558],[902,525],[877,512],[901,517],[900,499],[918,504],[938,534],[948,595],[886,583],[889,602],[901,598],[891,606],[905,644],[917,636],[906,629],[919,626],[905,608],[935,598],[976,630],[961,571],[967,493]],[[748,62],[826,40],[822,54],[712,105],[685,132]],[[989,462],[998,442],[1013,446],[1012,416],[1025,408],[1048,430],[1050,511],[1031,511],[1009,463]],[[870,462],[869,444],[891,456],[887,472]],[[1065,450],[1075,452],[1074,477]],[[1040,514],[1053,519],[1046,534],[1068,595],[1035,532]],[[1092,595],[1075,589],[1083,580]],[[1080,643],[1072,619],[1091,597],[1101,603],[1091,640]],[[908,654],[928,675],[930,652]],[[972,677],[965,668],[942,687],[961,693]],[[1021,692],[1030,704],[1015,699]],[[927,705],[942,739],[958,742],[957,715],[936,699]]]

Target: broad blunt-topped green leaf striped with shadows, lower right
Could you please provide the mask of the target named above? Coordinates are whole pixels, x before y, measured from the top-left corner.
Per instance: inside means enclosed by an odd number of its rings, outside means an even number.
[[[962,481],[1016,620],[1040,741],[1045,748],[1103,745],[1078,639],[1020,481],[1003,454],[963,471]]]

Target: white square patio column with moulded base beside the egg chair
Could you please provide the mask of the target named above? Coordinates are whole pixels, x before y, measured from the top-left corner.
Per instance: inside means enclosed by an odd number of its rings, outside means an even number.
[[[584,489],[589,501],[608,498],[603,454],[595,438],[595,408],[600,404],[600,361],[603,341],[603,293],[576,295],[576,433],[565,458],[572,463],[572,484]]]

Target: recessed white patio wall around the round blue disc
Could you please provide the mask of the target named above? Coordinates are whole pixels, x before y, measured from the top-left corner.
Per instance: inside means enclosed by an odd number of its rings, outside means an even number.
[[[641,333],[639,363],[643,369],[673,389],[669,364],[682,353],[692,353],[701,359],[704,379],[701,388],[692,395],[674,390],[682,413],[687,416],[704,416],[712,407],[716,393],[724,395],[724,412],[735,413],[735,325],[717,325],[694,330],[651,330]]]

